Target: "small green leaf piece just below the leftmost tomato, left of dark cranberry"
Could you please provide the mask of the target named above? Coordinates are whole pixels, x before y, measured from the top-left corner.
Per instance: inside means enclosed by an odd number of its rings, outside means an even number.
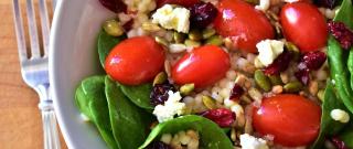
[[[150,94],[152,91],[151,84],[142,84],[138,86],[127,86],[120,84],[122,93],[130,98],[130,100],[147,110],[152,110],[153,106],[150,104]]]

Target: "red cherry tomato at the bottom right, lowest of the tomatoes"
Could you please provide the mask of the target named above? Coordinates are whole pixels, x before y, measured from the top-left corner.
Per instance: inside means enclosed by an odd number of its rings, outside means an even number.
[[[254,108],[254,127],[261,135],[272,135],[275,142],[306,146],[318,137],[321,108],[313,102],[291,94],[265,98]]]

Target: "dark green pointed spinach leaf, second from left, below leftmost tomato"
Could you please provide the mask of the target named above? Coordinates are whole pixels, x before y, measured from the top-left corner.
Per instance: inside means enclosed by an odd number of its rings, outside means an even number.
[[[105,78],[105,84],[114,138],[120,149],[136,149],[148,135],[146,111],[130,103],[109,77]]]

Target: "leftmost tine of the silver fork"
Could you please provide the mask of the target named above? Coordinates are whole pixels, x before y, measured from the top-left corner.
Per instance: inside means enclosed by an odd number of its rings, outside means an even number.
[[[15,29],[15,36],[18,40],[18,49],[20,61],[24,62],[28,60],[26,56],[26,46],[25,46],[25,38],[24,38],[24,30],[23,30],[23,22],[22,22],[22,13],[19,0],[13,0],[13,21],[14,21],[14,29]]]

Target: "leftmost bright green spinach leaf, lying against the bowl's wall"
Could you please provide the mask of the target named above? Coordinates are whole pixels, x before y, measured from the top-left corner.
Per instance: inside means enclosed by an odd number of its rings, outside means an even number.
[[[110,149],[118,149],[110,127],[108,105],[105,95],[105,76],[88,77],[82,82],[81,87],[77,89],[77,94],[79,95],[77,96],[77,102],[79,103],[81,109],[83,109],[82,113],[92,118],[108,147]]]

